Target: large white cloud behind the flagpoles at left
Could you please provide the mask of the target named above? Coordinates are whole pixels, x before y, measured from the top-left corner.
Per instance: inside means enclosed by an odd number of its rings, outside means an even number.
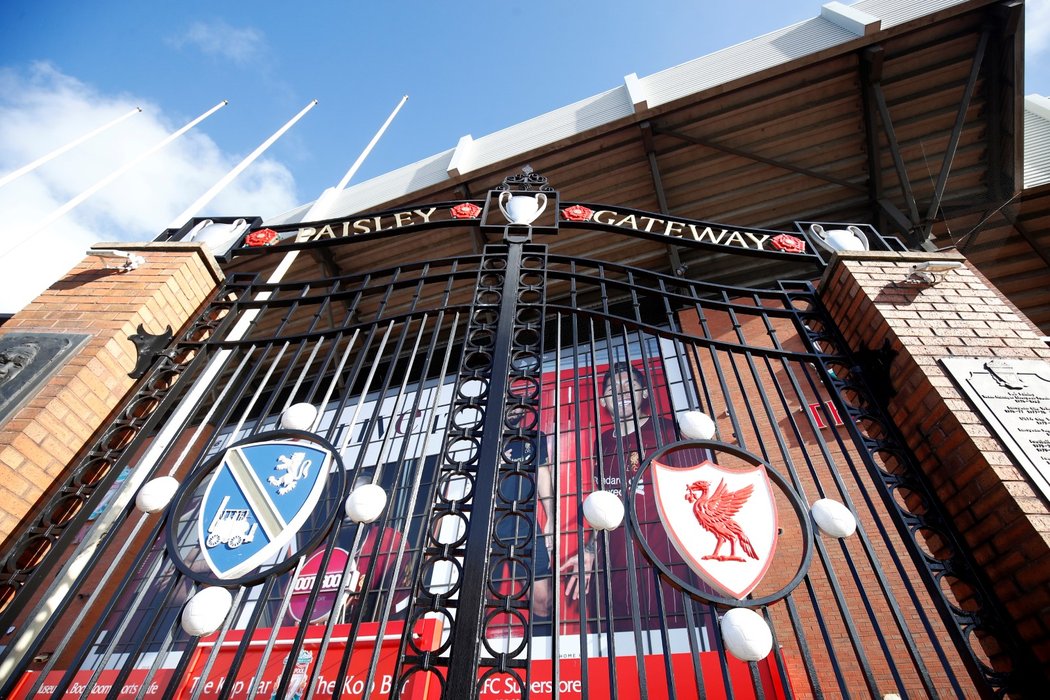
[[[0,313],[15,312],[81,260],[94,242],[151,240],[237,163],[196,129],[154,153],[44,231],[22,231],[181,127],[130,96],[100,94],[48,64],[0,69],[0,174],[135,106],[143,112],[0,188]],[[201,105],[204,111],[210,105]],[[197,129],[207,126],[204,122]],[[292,174],[260,158],[204,213],[271,216],[296,204]],[[25,242],[20,242],[25,239]],[[19,245],[12,249],[13,246]]]

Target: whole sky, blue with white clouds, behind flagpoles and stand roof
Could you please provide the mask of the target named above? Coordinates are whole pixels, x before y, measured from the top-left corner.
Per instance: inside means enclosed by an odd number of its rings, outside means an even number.
[[[98,241],[150,240],[312,100],[203,214],[264,218],[820,14],[820,0],[0,2],[0,176],[140,107],[0,188],[0,313]],[[1027,3],[1026,93],[1050,96],[1050,0]],[[222,101],[69,214],[50,212]],[[353,183],[352,183],[353,184]]]

